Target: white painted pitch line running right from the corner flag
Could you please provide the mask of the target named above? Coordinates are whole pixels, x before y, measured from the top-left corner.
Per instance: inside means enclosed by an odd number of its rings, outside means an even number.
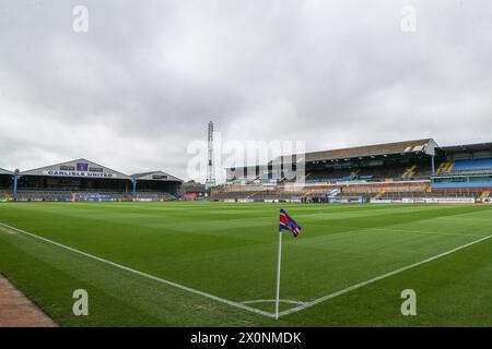
[[[285,311],[283,311],[283,312],[280,312],[280,313],[279,313],[279,316],[284,316],[284,315],[288,315],[288,314],[292,314],[292,313],[302,311],[302,310],[304,310],[304,309],[306,309],[306,308],[314,306],[314,305],[319,304],[319,303],[321,303],[321,302],[324,302],[324,301],[327,301],[327,300],[329,300],[329,299],[332,299],[332,298],[342,296],[342,294],[344,294],[344,293],[348,293],[348,292],[350,292],[350,291],[356,290],[356,289],[359,289],[359,288],[361,288],[361,287],[364,287],[364,286],[367,286],[367,285],[370,285],[370,284],[379,281],[379,280],[385,279],[385,278],[387,278],[387,277],[390,277],[390,276],[394,276],[394,275],[403,273],[403,272],[406,272],[406,270],[408,270],[408,269],[414,268],[414,267],[420,266],[420,265],[422,265],[422,264],[425,264],[425,263],[429,263],[429,262],[438,260],[438,258],[441,258],[441,257],[444,257],[444,256],[446,256],[446,255],[449,255],[449,254],[452,254],[452,253],[454,253],[454,252],[457,252],[457,251],[459,251],[459,250],[466,249],[466,248],[468,248],[468,246],[471,246],[471,245],[473,245],[473,244],[476,244],[476,243],[482,242],[482,241],[484,241],[484,240],[487,240],[487,239],[490,239],[490,238],[492,238],[492,236],[488,236],[488,237],[484,237],[484,238],[482,238],[482,239],[478,239],[478,240],[471,241],[471,242],[469,242],[469,243],[467,243],[467,244],[464,244],[464,245],[457,246],[457,248],[455,248],[455,249],[453,249],[453,250],[449,250],[449,251],[440,253],[440,254],[434,255],[434,256],[432,256],[432,257],[429,257],[429,258],[426,258],[426,260],[423,260],[423,261],[420,261],[420,262],[417,262],[417,263],[413,263],[413,264],[403,266],[403,267],[398,268],[398,269],[396,269],[396,270],[393,270],[393,272],[389,272],[389,273],[379,275],[379,276],[377,276],[377,277],[375,277],[375,278],[372,278],[372,279],[368,279],[368,280],[365,280],[365,281],[362,281],[362,282],[359,282],[359,284],[349,286],[349,287],[347,287],[347,288],[344,288],[344,289],[342,289],[342,290],[339,290],[339,291],[337,291],[337,292],[333,292],[333,293],[330,293],[330,294],[326,294],[326,296],[320,297],[320,298],[317,298],[317,299],[315,299],[315,300],[313,300],[313,301],[305,302],[303,305],[295,306],[295,308],[292,308],[292,309],[288,309],[288,310],[285,310]]]

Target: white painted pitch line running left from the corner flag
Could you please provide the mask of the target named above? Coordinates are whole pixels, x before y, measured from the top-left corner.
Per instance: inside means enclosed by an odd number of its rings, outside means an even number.
[[[165,284],[165,285],[168,285],[168,286],[173,286],[173,287],[175,287],[175,288],[185,290],[185,291],[187,291],[187,292],[195,293],[195,294],[199,294],[199,296],[202,296],[202,297],[212,299],[212,300],[214,300],[214,301],[218,301],[218,302],[221,302],[221,303],[231,305],[231,306],[239,308],[239,309],[243,309],[243,310],[246,310],[246,311],[256,313],[256,314],[260,314],[260,315],[263,315],[263,316],[267,316],[267,317],[276,317],[276,315],[274,315],[273,313],[269,313],[269,312],[266,312],[266,311],[262,311],[262,310],[259,310],[259,309],[256,309],[256,308],[251,308],[251,306],[248,306],[248,305],[243,304],[243,303],[239,303],[239,302],[231,301],[231,300],[227,300],[227,299],[225,299],[225,298],[221,298],[221,297],[218,297],[218,296],[214,296],[214,294],[210,294],[210,293],[207,293],[207,292],[203,292],[203,291],[199,291],[199,290],[196,290],[196,289],[194,289],[194,288],[190,288],[190,287],[187,287],[187,286],[177,284],[177,282],[173,282],[173,281],[163,279],[163,278],[153,276],[153,275],[151,275],[151,274],[147,274],[147,273],[143,273],[143,272],[139,272],[139,270],[137,270],[137,269],[132,269],[132,268],[130,268],[130,267],[128,267],[128,266],[125,266],[125,265],[121,265],[121,264],[118,264],[118,263],[115,263],[115,262],[110,262],[110,261],[104,260],[104,258],[98,257],[98,256],[95,256],[95,255],[93,255],[93,254],[90,254],[90,253],[86,253],[86,252],[83,252],[83,251],[80,251],[80,250],[77,250],[77,249],[67,246],[67,245],[61,244],[61,243],[59,243],[59,242],[56,242],[56,241],[52,241],[52,240],[49,240],[49,239],[39,237],[39,236],[37,236],[37,234],[35,234],[35,233],[27,232],[27,231],[25,231],[25,230],[22,230],[22,229],[15,228],[15,227],[8,226],[8,225],[5,225],[5,224],[3,224],[3,222],[0,222],[0,226],[5,227],[5,228],[8,228],[8,229],[12,229],[12,230],[17,231],[17,232],[21,232],[21,233],[23,233],[23,234],[30,236],[30,237],[32,237],[32,238],[42,240],[42,241],[44,241],[44,242],[51,243],[51,244],[54,244],[54,245],[56,245],[56,246],[59,246],[59,248],[61,248],[61,249],[65,249],[65,250],[68,250],[68,251],[71,251],[71,252],[81,254],[81,255],[83,255],[83,256],[85,256],[85,257],[87,257],[87,258],[92,258],[92,260],[95,260],[95,261],[98,261],[98,262],[102,262],[102,263],[109,264],[109,265],[112,265],[112,266],[114,266],[114,267],[124,269],[124,270],[129,272],[129,273],[132,273],[132,274],[137,274],[137,275],[139,275],[139,276],[142,276],[142,277],[152,279],[152,280],[157,281],[157,282],[161,282],[161,284]]]

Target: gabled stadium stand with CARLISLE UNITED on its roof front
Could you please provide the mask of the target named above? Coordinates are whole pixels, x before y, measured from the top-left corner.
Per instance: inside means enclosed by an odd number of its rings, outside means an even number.
[[[127,176],[86,159],[28,171],[15,178],[15,201],[167,201],[179,197],[183,181],[163,171]]]

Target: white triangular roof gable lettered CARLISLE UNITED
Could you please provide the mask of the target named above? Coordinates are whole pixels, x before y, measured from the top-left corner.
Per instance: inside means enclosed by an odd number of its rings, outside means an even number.
[[[131,179],[125,173],[115,171],[110,168],[101,166],[86,159],[75,159],[28,171],[22,171],[21,174],[99,179]]]

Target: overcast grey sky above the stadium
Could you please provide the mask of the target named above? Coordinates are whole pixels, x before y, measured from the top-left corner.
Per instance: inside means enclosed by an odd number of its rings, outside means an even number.
[[[0,0],[8,169],[85,157],[186,179],[209,120],[307,151],[488,142],[491,96],[490,0]]]

